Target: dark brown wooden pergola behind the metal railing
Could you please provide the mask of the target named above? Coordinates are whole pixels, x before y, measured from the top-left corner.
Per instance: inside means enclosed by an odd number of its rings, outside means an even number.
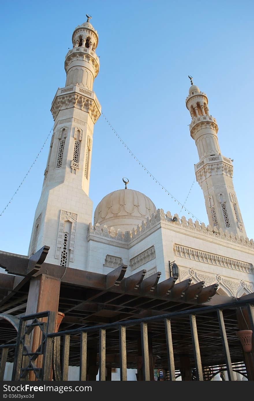
[[[119,327],[126,325],[126,366],[138,369],[138,379],[142,380],[140,321],[145,319],[147,324],[150,369],[168,370],[168,338],[164,318],[166,314],[171,314],[175,367],[181,371],[182,379],[190,380],[196,366],[193,327],[197,328],[202,366],[205,368],[225,364],[225,344],[218,312],[216,308],[207,307],[224,304],[228,305],[223,310],[223,324],[231,360],[234,363],[244,360],[248,378],[254,380],[253,352],[244,355],[235,335],[244,326],[242,311],[248,322],[250,316],[244,308],[239,313],[235,305],[230,307],[230,302],[235,302],[233,297],[217,295],[218,284],[204,287],[204,282],[191,284],[191,279],[177,283],[176,276],[160,282],[160,272],[145,278],[146,270],[125,278],[126,265],[106,275],[93,273],[46,263],[48,250],[44,246],[30,258],[0,252],[0,266],[9,273],[0,274],[0,314],[4,314],[4,319],[0,320],[1,344],[15,342],[17,319],[20,316],[44,311],[52,311],[56,315],[62,312],[64,318],[60,332],[67,330],[70,333],[68,365],[79,366],[79,330],[92,327],[87,337],[88,379],[94,380],[100,363],[100,330],[96,328],[106,325],[105,363],[107,367],[114,368],[120,367]],[[254,294],[242,297],[241,302],[248,301],[248,298],[254,302]],[[192,316],[194,310],[198,312],[195,317],[196,326],[190,324],[189,310]],[[6,315],[10,317],[6,318]],[[128,324],[130,321],[132,324]],[[34,335],[34,349],[39,341],[39,336]],[[64,343],[61,342],[62,354],[63,347]],[[13,360],[13,357],[14,351],[10,350],[8,360]]]

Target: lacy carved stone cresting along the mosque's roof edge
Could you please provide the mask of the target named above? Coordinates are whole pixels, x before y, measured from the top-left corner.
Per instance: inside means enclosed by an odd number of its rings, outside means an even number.
[[[193,223],[192,219],[188,219],[187,221],[186,217],[184,216],[179,219],[177,213],[172,216],[170,212],[167,212],[165,215],[163,209],[157,209],[156,215],[152,213],[151,219],[147,218],[146,222],[143,221],[141,226],[137,225],[136,229],[133,228],[132,231],[125,231],[125,233],[122,233],[120,229],[115,231],[114,227],[108,229],[108,227],[104,225],[102,229],[98,223],[94,226],[92,225],[92,223],[90,223],[90,225],[88,226],[88,235],[95,234],[100,235],[101,237],[112,238],[122,243],[129,243],[134,239],[140,237],[140,235],[147,233],[153,226],[155,226],[159,222],[166,224],[170,223],[172,225],[182,227],[183,229],[190,230],[192,233],[202,233],[208,235],[209,237],[215,237],[217,239],[222,239],[230,243],[254,249],[253,239],[249,240],[248,237],[244,238],[242,235],[239,237],[238,234],[234,235],[234,233],[229,233],[228,230],[226,230],[225,232],[222,229],[218,230],[217,227],[212,227],[210,224],[208,224],[208,226],[206,226],[204,223],[200,224],[198,220]]]

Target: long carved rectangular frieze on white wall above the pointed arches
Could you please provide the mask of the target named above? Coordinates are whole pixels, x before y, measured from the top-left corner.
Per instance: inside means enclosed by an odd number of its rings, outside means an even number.
[[[205,251],[200,251],[198,249],[189,248],[178,244],[174,244],[173,249],[174,255],[184,257],[185,259],[208,263],[210,265],[228,267],[228,269],[243,271],[244,273],[253,272],[253,265],[251,263],[230,259],[228,257],[216,255],[214,253],[207,253]]]

